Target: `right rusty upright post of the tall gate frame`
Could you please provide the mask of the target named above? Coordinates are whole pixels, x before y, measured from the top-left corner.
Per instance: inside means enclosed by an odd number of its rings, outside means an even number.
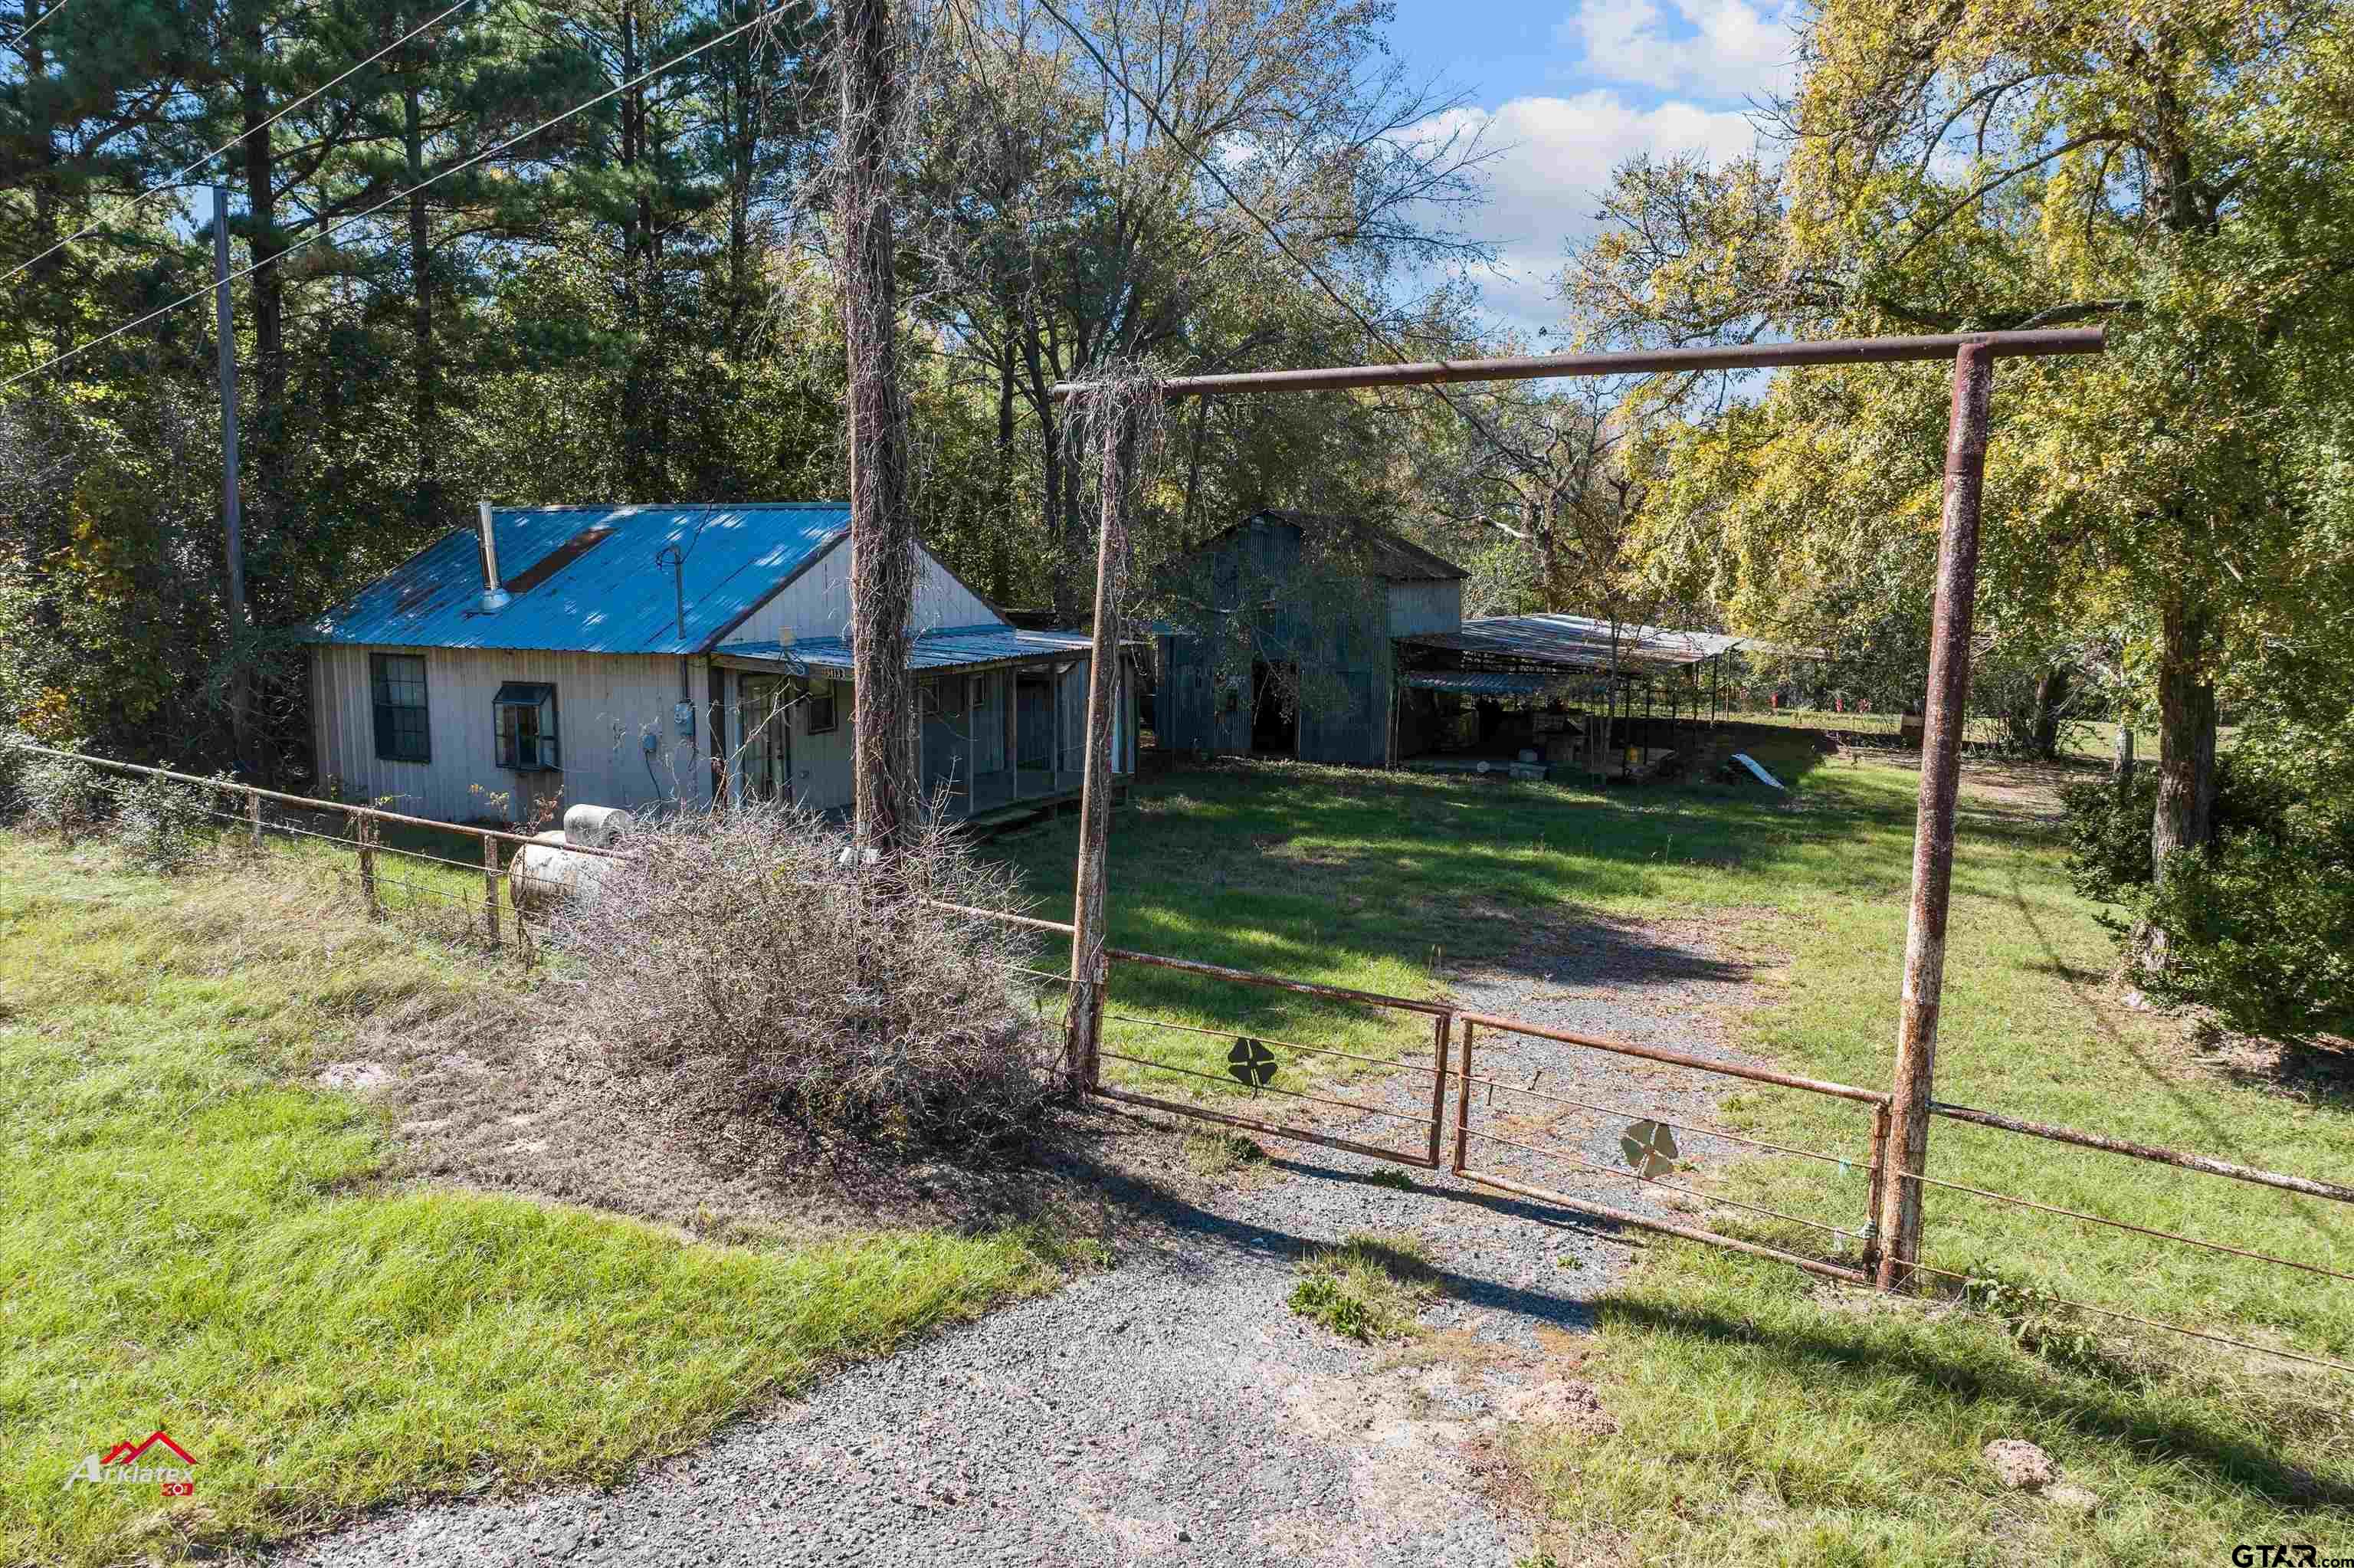
[[[1954,892],[1954,796],[1961,730],[1970,706],[1970,612],[1977,598],[1977,513],[1987,478],[1987,407],[1994,346],[1954,356],[1954,410],[1944,433],[1944,534],[1937,542],[1937,605],[1928,633],[1928,718],[1921,730],[1921,805],[1914,817],[1914,895],[1904,937],[1888,1154],[1881,1182],[1878,1283],[1904,1285],[1921,1260],[1921,1182],[1928,1172],[1928,1107],[1937,1062],[1937,998],[1944,989],[1944,918]],[[1914,1177],[1914,1180],[1909,1180]]]

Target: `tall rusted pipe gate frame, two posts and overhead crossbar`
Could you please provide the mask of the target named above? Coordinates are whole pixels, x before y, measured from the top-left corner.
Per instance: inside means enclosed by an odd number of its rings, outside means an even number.
[[[1954,360],[1954,403],[1944,436],[1944,516],[1937,539],[1937,598],[1930,622],[1928,716],[1921,737],[1921,796],[1914,819],[1911,916],[1904,937],[1904,986],[1897,1022],[1895,1088],[1888,1140],[1897,1170],[1928,1172],[1928,1118],[1937,1059],[1937,1001],[1944,989],[1947,909],[1954,888],[1954,800],[1961,782],[1961,730],[1970,695],[1970,612],[1977,591],[1977,520],[1987,473],[1987,419],[1994,360],[2102,353],[2100,327],[2034,332],[1959,332],[1940,337],[1860,337],[1820,344],[1758,344],[1733,348],[1657,348],[1638,353],[1554,353],[1497,360],[1427,360],[1417,365],[1337,365],[1323,370],[1259,370],[1219,377],[1177,377],[1161,384],[1168,398],[1217,393],[1346,391],[1363,386],[1436,386],[1445,381],[1532,381],[1547,377],[1690,374],[1707,370],[1787,370],[1801,365],[1895,365]],[[1085,393],[1062,381],[1055,398]],[[1095,586],[1095,687],[1109,692],[1106,659],[1116,657],[1111,560],[1118,497],[1104,497]],[[1099,1076],[1104,965],[1104,843],[1109,838],[1111,704],[1088,704],[1088,768],[1080,798],[1076,899],[1071,932],[1073,1005],[1069,1064],[1073,1083],[1095,1088]],[[1102,805],[1099,805],[1102,803]],[[1874,1234],[1881,1241],[1876,1281],[1904,1283],[1921,1260],[1921,1182],[1881,1182]]]

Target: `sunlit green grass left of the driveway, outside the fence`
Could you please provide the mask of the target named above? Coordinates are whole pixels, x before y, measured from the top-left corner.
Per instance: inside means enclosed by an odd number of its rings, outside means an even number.
[[[282,869],[165,883],[0,836],[0,1561],[612,1479],[1057,1278],[1033,1231],[732,1248],[386,1182],[372,1114],[308,1071],[386,1008],[501,1026],[513,984]],[[64,1486],[158,1427],[193,1497]]]

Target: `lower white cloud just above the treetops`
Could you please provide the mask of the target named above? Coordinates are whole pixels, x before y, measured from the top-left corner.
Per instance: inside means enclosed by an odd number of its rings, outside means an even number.
[[[1499,153],[1485,165],[1488,205],[1474,228],[1497,247],[1502,278],[1483,278],[1488,306],[1521,327],[1558,318],[1554,278],[1563,242],[1594,233],[1610,174],[1636,153],[1737,158],[1754,129],[1737,111],[1697,104],[1636,108],[1596,87],[1568,99],[1511,99],[1502,108],[1457,108],[1417,127],[1424,137],[1478,132]]]

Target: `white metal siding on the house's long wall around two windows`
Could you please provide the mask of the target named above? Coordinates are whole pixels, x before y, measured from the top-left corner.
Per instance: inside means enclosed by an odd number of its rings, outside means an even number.
[[[370,652],[424,655],[431,763],[388,763],[377,756]],[[386,798],[391,810],[443,822],[523,822],[534,800],[558,791],[565,805],[647,805],[678,796],[704,803],[711,796],[701,751],[709,744],[701,735],[709,711],[701,702],[694,704],[694,737],[676,735],[676,657],[320,647],[318,659],[320,782],[334,779],[346,800]],[[506,680],[556,687],[563,772],[513,772],[497,765],[490,704]],[[701,685],[697,676],[690,690],[699,695]],[[654,756],[643,749],[647,732],[657,739]]]

